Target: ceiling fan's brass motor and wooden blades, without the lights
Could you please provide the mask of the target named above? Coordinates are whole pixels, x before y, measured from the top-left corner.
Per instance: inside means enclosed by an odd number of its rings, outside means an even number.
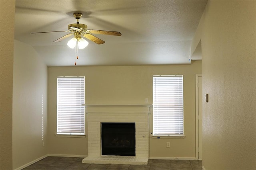
[[[82,37],[85,37],[86,39],[89,39],[90,41],[93,41],[96,44],[103,44],[105,43],[105,41],[103,41],[102,39],[99,39],[98,37],[95,37],[92,34],[117,35],[117,36],[122,35],[118,31],[87,29],[87,25],[79,23],[79,19],[81,18],[82,13],[74,13],[73,15],[77,19],[77,22],[69,24],[68,31],[49,31],[49,32],[36,32],[36,33],[70,32],[69,34],[64,35],[63,37],[60,37],[59,39],[56,39],[53,42],[59,42],[65,38],[70,37],[71,35],[74,35],[74,38],[77,39],[78,41],[81,39],[81,36],[82,36]]]

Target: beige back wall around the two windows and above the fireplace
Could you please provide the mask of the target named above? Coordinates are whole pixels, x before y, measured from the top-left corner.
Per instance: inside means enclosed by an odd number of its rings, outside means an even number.
[[[151,139],[150,157],[195,158],[195,74],[201,73],[201,61],[191,65],[169,66],[72,66],[48,68],[48,143],[50,154],[88,155],[86,138],[56,137],[56,78],[85,76],[86,104],[152,103],[152,76],[184,75],[185,139]],[[152,132],[152,114],[150,114]],[[171,144],[166,148],[166,142]]]

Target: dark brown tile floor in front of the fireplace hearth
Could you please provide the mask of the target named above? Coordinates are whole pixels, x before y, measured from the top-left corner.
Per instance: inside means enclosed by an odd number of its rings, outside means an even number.
[[[147,165],[84,164],[84,158],[48,156],[23,170],[202,170],[200,160],[148,160]]]

